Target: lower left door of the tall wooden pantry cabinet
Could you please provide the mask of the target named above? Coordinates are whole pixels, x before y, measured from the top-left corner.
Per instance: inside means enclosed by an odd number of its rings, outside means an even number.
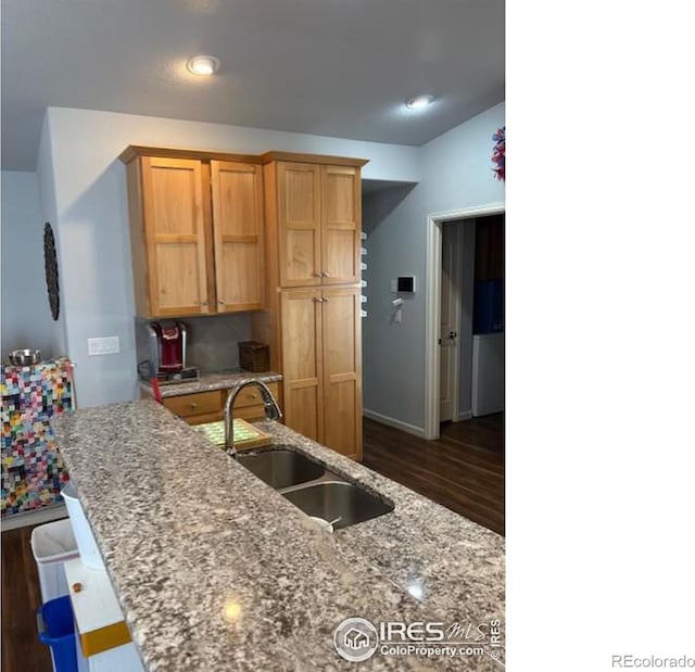
[[[290,290],[280,296],[285,423],[319,442],[324,440],[321,305],[320,290]]]

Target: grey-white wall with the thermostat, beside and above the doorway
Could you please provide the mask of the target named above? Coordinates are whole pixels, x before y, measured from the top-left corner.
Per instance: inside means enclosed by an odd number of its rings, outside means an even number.
[[[500,103],[419,148],[420,182],[369,232],[364,407],[410,431],[425,426],[427,216],[504,202],[491,162],[492,135],[503,125]],[[371,203],[369,210],[379,207]],[[399,275],[417,276],[418,292],[405,301],[403,321],[394,324],[389,283]]]

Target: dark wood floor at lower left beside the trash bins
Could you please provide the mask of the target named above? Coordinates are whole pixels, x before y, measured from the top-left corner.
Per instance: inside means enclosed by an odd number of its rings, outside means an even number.
[[[51,654],[38,639],[41,605],[29,538],[33,528],[2,533],[2,672],[51,672]]]

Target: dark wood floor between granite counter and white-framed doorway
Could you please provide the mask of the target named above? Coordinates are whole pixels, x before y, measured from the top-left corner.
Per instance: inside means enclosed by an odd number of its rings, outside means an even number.
[[[504,534],[504,414],[443,424],[425,441],[364,421],[363,464]]]

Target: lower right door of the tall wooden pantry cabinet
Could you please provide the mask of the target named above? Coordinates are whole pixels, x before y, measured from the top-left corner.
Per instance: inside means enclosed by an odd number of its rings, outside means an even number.
[[[362,335],[359,290],[323,291],[324,443],[362,459]]]

